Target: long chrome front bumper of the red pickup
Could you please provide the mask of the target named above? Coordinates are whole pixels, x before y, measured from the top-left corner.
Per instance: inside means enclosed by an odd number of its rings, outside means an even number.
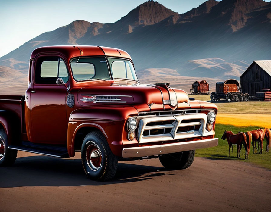
[[[123,158],[131,157],[146,157],[160,154],[169,154],[175,152],[183,152],[194,149],[203,149],[217,146],[218,138],[204,139],[198,141],[186,141],[172,144],[162,144],[153,146],[142,146],[142,147],[130,147],[122,150]]]

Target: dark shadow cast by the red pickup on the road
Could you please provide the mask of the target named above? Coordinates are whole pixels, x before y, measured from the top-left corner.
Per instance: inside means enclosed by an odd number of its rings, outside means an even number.
[[[12,167],[0,167],[0,188],[22,186],[86,186],[137,182],[156,176],[172,175],[163,167],[119,162],[116,176],[107,182],[87,179],[81,159],[30,156],[16,159]]]

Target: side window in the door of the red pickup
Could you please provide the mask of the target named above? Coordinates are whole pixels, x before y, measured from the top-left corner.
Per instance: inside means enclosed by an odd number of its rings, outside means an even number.
[[[61,77],[64,83],[69,80],[67,67],[59,57],[38,58],[35,69],[35,82],[38,84],[56,84]]]

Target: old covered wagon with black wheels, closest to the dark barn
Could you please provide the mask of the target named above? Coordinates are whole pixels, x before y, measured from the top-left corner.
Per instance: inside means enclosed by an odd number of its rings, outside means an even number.
[[[219,101],[220,99],[226,99],[228,102],[235,100],[237,101],[248,101],[249,94],[243,94],[240,91],[239,82],[235,79],[229,79],[224,82],[217,82],[215,85],[215,91],[211,93],[211,101]]]

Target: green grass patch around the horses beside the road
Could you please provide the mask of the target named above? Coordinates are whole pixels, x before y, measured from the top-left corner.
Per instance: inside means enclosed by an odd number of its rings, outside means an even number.
[[[253,154],[253,147],[250,145],[250,153],[248,156],[248,160],[244,160],[245,158],[245,149],[242,146],[240,158],[238,159],[237,156],[237,149],[236,145],[233,145],[233,152],[230,150],[230,157],[228,157],[229,154],[229,145],[227,140],[222,140],[221,137],[225,130],[232,131],[233,133],[238,133],[238,131],[241,132],[247,132],[253,129],[259,129],[260,126],[248,126],[248,127],[236,127],[233,125],[225,125],[225,124],[216,124],[215,137],[219,138],[218,140],[218,146],[207,148],[207,149],[198,149],[196,150],[196,156],[197,157],[207,157],[210,159],[229,159],[229,160],[238,160],[238,161],[245,161],[245,162],[251,162],[253,164],[256,164],[258,166],[267,168],[271,170],[271,150],[269,152],[266,152],[266,139],[263,140],[263,154]],[[258,144],[257,144],[258,146]],[[260,149],[260,148],[259,148]],[[260,151],[260,150],[259,150]],[[257,153],[257,150],[255,150],[255,153]]]

